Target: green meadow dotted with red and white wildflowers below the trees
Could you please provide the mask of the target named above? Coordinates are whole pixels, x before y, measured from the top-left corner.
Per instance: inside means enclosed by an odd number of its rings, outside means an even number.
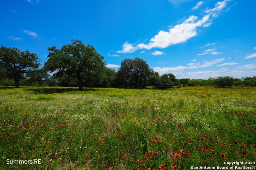
[[[255,162],[255,87],[0,87],[0,169],[188,170]]]

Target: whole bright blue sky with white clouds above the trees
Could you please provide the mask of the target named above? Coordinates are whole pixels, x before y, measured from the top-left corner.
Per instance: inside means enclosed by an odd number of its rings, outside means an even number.
[[[79,39],[118,69],[144,59],[176,78],[256,76],[255,0],[1,0],[0,45],[37,53]]]

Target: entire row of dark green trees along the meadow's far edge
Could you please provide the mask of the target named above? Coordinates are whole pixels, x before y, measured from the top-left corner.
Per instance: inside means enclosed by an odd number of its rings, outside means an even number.
[[[0,86],[78,86],[103,88],[180,88],[181,86],[256,86],[256,76],[241,79],[230,76],[217,78],[177,79],[174,74],[159,75],[140,58],[124,59],[116,71],[106,67],[104,57],[92,45],[80,40],[48,48],[44,65],[36,53],[13,47],[0,48]]]

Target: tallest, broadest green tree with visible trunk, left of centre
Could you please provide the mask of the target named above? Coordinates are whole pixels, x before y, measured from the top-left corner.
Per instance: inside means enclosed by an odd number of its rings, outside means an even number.
[[[54,73],[56,78],[75,77],[79,90],[94,74],[103,72],[106,67],[104,57],[92,45],[86,46],[80,40],[72,40],[71,44],[63,45],[61,49],[49,47],[48,51],[46,70]]]

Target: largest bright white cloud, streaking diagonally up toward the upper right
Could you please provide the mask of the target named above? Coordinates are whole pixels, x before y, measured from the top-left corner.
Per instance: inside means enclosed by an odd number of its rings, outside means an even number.
[[[159,31],[157,35],[150,39],[150,42],[148,44],[140,43],[137,46],[133,46],[132,44],[126,41],[123,44],[123,49],[121,51],[118,51],[118,53],[132,53],[137,49],[163,49],[171,45],[184,43],[188,39],[195,37],[197,35],[197,29],[199,27],[210,26],[212,24],[210,17],[216,17],[217,14],[226,7],[228,1],[230,0],[218,2],[217,4],[215,4],[215,8],[206,10],[206,15],[204,15],[201,19],[198,18],[198,16],[192,15],[186,20],[184,20],[182,23],[172,26],[168,31]],[[171,2],[175,3],[178,2],[178,0],[171,0]],[[205,46],[214,44],[215,43],[207,44]]]

